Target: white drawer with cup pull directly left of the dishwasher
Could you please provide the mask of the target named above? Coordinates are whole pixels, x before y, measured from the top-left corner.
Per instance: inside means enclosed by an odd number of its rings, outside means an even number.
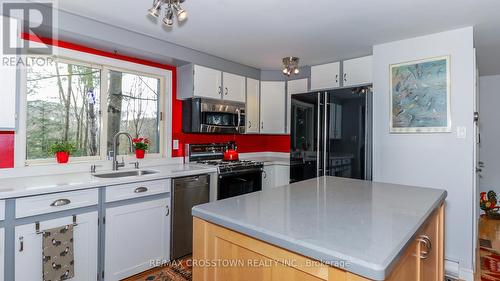
[[[135,182],[106,187],[106,202],[170,192],[170,180]]]

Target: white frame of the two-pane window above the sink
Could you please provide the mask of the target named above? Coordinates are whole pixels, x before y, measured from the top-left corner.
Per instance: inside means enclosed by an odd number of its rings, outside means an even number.
[[[172,124],[167,122],[166,113],[172,112],[172,79],[173,73],[168,69],[151,67],[143,64],[133,63],[124,60],[108,58],[104,56],[64,49],[54,46],[56,58],[64,63],[74,63],[89,66],[101,70],[101,96],[100,96],[100,149],[98,156],[72,157],[70,163],[95,162],[107,159],[107,95],[108,95],[108,72],[115,70],[130,74],[144,75],[160,79],[160,123],[159,153],[148,153],[146,159],[171,158],[172,155]],[[27,137],[27,69],[21,67],[20,71],[20,93],[19,98],[19,129],[15,134],[14,166],[25,167],[35,165],[49,165],[56,161],[53,158],[47,159],[26,159],[26,137]],[[123,155],[126,161],[134,159],[131,155]]]

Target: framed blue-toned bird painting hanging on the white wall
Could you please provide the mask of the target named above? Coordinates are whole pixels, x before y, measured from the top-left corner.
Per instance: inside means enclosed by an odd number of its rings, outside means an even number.
[[[451,132],[450,56],[390,66],[390,132]]]

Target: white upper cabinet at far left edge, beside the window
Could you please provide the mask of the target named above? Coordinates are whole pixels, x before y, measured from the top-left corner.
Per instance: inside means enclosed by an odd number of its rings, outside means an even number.
[[[12,29],[17,29],[17,22],[14,19],[10,26]],[[0,16],[0,30],[3,30],[4,17]],[[13,32],[11,32],[13,33]],[[14,33],[15,36],[16,33]],[[3,36],[5,37],[5,36]],[[10,55],[5,54],[3,50],[3,41],[9,38],[0,38],[0,54],[5,59]],[[0,131],[14,130],[16,128],[16,67],[15,66],[0,66],[0,85],[2,85],[0,103]]]

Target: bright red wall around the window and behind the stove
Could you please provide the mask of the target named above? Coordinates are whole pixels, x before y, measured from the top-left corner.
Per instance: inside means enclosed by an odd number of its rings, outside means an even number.
[[[139,63],[172,71],[172,137],[179,140],[179,149],[172,151],[172,156],[184,155],[184,145],[188,143],[210,143],[236,141],[240,152],[288,152],[290,137],[288,135],[211,135],[211,134],[184,134],[182,132],[182,102],[176,98],[177,95],[177,70],[174,66],[160,64],[152,61],[137,59],[129,56],[109,53],[82,45],[69,42],[52,40],[49,38],[37,38],[29,34],[22,34],[25,40],[43,42],[61,48],[76,50],[80,52],[100,55],[104,57]],[[169,120],[166,120],[167,122]],[[14,166],[14,132],[0,132],[0,168],[11,168]]]

